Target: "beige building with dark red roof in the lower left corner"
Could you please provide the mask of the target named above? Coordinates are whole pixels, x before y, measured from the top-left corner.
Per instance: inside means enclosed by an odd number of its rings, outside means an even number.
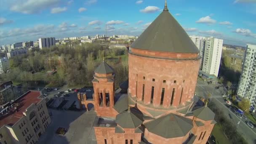
[[[40,91],[28,91],[0,108],[0,143],[35,144],[51,123]]]

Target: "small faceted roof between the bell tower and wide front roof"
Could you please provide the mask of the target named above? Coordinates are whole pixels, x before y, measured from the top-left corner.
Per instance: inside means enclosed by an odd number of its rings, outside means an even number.
[[[137,128],[143,122],[142,116],[139,117],[138,115],[135,114],[135,111],[128,109],[128,111],[118,114],[115,122],[122,128]]]

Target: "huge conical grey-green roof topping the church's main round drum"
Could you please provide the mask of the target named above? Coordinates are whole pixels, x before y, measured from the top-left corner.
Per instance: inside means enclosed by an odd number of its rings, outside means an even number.
[[[199,53],[187,32],[168,9],[164,9],[131,45],[131,48],[173,53]]]

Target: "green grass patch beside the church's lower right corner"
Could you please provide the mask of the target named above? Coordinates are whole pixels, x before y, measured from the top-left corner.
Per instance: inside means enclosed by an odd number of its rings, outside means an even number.
[[[216,138],[216,144],[231,144],[229,139],[227,139],[224,135],[221,125],[219,123],[214,125],[212,134]]]

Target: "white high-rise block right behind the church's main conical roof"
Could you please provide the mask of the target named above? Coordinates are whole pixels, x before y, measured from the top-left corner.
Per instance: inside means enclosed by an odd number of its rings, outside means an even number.
[[[200,70],[218,77],[223,40],[214,37],[190,36],[200,51]]]

